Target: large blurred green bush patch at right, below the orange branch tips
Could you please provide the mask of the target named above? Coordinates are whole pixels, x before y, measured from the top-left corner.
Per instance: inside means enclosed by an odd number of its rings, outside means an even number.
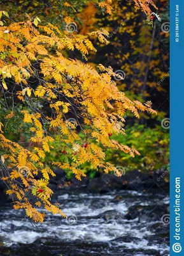
[[[157,170],[169,165],[169,131],[160,125],[152,129],[134,124],[126,129],[125,136],[113,136],[113,139],[126,141],[128,146],[135,147],[140,153],[132,159],[123,152],[108,150],[106,159],[117,166],[124,166],[125,170]]]

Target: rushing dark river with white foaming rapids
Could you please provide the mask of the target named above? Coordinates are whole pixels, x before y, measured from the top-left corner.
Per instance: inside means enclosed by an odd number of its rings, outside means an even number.
[[[152,214],[158,205],[167,207],[166,194],[113,191],[69,195],[60,191],[55,200],[67,220],[47,212],[45,223],[37,227],[21,211],[2,202],[0,255],[169,255],[169,225],[160,218],[162,210]]]

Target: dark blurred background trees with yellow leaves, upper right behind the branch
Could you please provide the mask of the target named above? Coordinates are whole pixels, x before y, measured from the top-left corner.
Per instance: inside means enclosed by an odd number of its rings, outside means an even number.
[[[135,10],[130,2],[118,0],[113,1],[110,16],[96,15],[87,20],[81,33],[88,33],[94,27],[108,30],[110,44],[99,48],[98,58],[92,54],[89,61],[108,63],[122,76],[125,74],[124,81],[117,81],[120,90],[134,100],[157,99],[155,108],[169,115],[169,33],[161,29],[164,22],[168,24],[169,6],[166,0],[154,3],[159,6],[162,20],[153,20],[153,28],[147,24],[145,13]],[[152,11],[157,12],[154,8]]]

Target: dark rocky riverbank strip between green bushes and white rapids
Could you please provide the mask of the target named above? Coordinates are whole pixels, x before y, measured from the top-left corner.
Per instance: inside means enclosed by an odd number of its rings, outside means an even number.
[[[59,168],[55,169],[56,177],[50,180],[50,188],[57,191],[59,189],[66,189],[68,193],[73,193],[76,189],[80,191],[87,191],[91,193],[107,193],[117,190],[135,190],[145,191],[150,190],[163,190],[169,192],[169,182],[166,181],[168,171],[159,169],[150,172],[140,172],[139,170],[132,170],[124,173],[121,177],[114,174],[98,173],[97,177],[93,179],[87,175],[82,180],[67,179],[67,174],[64,170]]]

